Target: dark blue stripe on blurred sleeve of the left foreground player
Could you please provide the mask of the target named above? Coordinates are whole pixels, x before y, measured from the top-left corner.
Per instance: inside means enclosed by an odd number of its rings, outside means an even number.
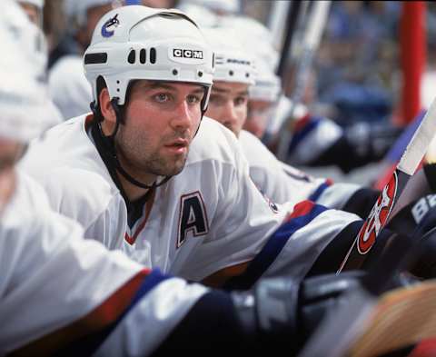
[[[103,344],[106,338],[114,331],[118,323],[122,322],[124,316],[132,310],[137,302],[149,293],[156,285],[162,283],[164,280],[171,278],[171,276],[163,275],[159,270],[154,269],[144,279],[140,288],[134,295],[132,302],[125,309],[123,314],[113,324],[100,332],[85,336],[82,340],[74,341],[71,345],[67,346],[63,351],[59,352],[60,356],[91,356]]]

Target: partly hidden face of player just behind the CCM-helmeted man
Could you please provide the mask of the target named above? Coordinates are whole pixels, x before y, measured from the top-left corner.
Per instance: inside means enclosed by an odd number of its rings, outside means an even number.
[[[247,118],[247,100],[248,84],[214,82],[206,115],[239,136]]]

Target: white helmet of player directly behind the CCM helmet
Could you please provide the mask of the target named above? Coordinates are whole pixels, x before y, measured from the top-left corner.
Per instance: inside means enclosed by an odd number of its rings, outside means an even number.
[[[213,81],[253,85],[256,77],[254,59],[243,51],[237,34],[223,27],[206,28],[203,33],[215,54]]]

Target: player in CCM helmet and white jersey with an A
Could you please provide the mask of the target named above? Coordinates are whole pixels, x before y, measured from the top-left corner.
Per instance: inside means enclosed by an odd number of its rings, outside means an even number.
[[[188,17],[115,9],[97,25],[84,67],[94,113],[31,144],[24,167],[85,237],[216,286],[300,280],[315,261],[336,270],[362,221],[312,202],[288,216],[257,190],[232,132],[207,118],[199,128],[213,54]],[[326,247],[335,256],[324,257]]]

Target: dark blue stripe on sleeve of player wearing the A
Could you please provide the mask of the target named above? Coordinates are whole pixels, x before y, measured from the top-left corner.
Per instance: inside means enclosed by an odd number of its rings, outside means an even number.
[[[225,290],[250,289],[274,262],[277,255],[282,252],[284,245],[292,237],[292,234],[308,223],[311,223],[316,216],[326,210],[327,208],[320,204],[313,204],[309,213],[294,217],[286,223],[282,223],[277,231],[272,233],[268,242],[263,246],[262,251],[254,257],[245,272],[230,279],[224,284],[223,288]]]

